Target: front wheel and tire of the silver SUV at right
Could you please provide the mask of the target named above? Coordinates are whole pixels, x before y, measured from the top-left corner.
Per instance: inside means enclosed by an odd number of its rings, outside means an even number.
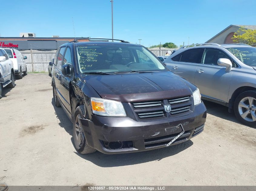
[[[234,102],[236,118],[245,125],[256,127],[256,91],[245,91]]]

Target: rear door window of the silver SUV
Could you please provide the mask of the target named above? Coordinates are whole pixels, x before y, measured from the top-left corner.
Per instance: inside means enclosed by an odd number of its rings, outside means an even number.
[[[202,48],[189,49],[182,53],[180,62],[201,63],[203,52]]]

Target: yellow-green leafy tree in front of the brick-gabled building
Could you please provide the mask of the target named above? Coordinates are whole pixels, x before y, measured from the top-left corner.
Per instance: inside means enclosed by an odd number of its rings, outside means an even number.
[[[244,43],[256,46],[256,30],[239,28],[237,33],[231,38],[234,43]]]

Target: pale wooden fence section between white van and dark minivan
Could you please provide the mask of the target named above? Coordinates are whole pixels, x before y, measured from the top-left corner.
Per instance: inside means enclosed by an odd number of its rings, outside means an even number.
[[[48,72],[49,62],[54,58],[57,50],[22,50],[23,56],[27,56],[25,60],[28,72]]]

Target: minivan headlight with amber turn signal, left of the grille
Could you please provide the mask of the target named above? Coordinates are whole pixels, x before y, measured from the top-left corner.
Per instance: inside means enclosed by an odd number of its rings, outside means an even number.
[[[126,116],[123,104],[119,101],[91,97],[92,113],[101,116]]]

